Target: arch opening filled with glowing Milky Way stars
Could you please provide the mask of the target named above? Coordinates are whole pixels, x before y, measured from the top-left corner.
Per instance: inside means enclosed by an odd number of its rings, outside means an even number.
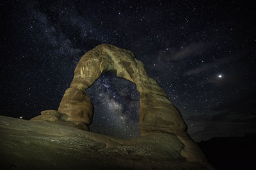
[[[94,106],[90,131],[121,138],[140,137],[140,94],[134,83],[106,72],[86,92]]]

